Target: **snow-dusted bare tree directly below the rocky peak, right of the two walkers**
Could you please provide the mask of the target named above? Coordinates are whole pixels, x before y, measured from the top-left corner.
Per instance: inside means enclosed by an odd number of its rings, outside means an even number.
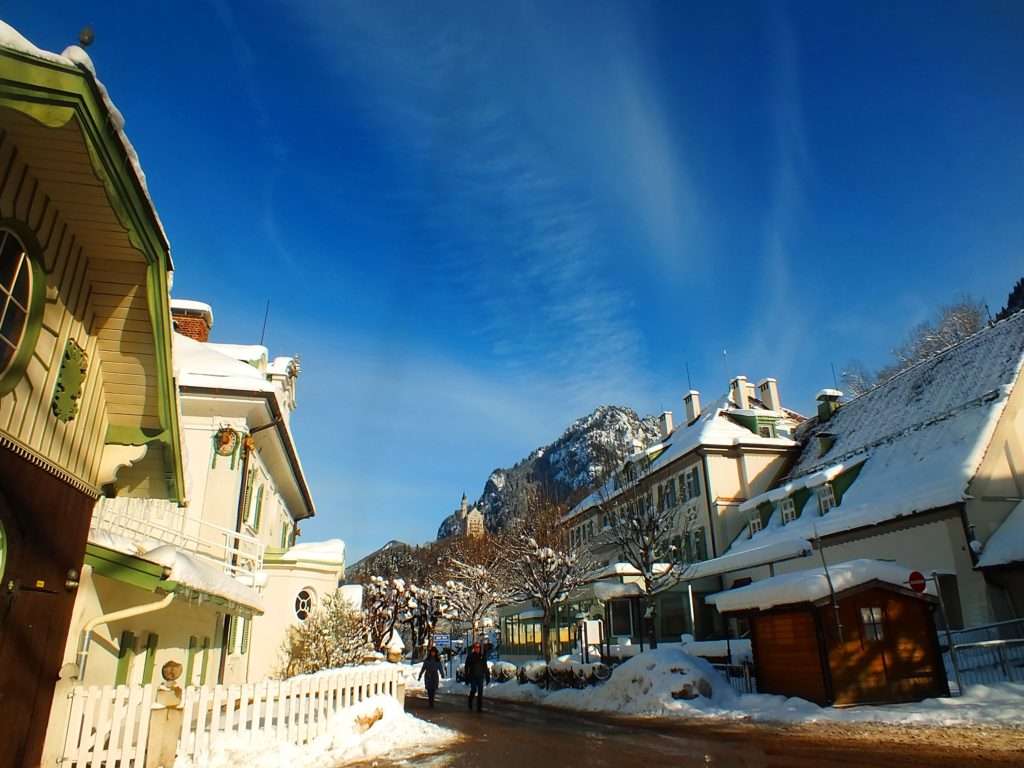
[[[556,607],[593,575],[596,561],[583,545],[571,546],[561,525],[564,508],[535,496],[528,514],[506,535],[509,599],[531,602],[543,613],[541,644],[551,660],[557,638],[551,632]]]

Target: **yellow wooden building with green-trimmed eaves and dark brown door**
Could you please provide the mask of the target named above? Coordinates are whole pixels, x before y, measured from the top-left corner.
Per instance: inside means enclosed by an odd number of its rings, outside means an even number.
[[[0,23],[0,766],[39,763],[93,505],[182,495],[167,239],[77,47]]]

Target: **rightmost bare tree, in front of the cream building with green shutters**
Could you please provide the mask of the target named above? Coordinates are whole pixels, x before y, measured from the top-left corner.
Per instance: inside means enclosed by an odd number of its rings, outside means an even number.
[[[613,545],[624,562],[632,565],[642,580],[644,631],[650,647],[657,647],[655,595],[676,582],[676,568],[680,550],[673,538],[682,540],[692,522],[680,514],[675,493],[655,486],[650,477],[652,460],[646,451],[640,451],[621,465],[614,466],[609,476],[596,492],[597,507],[603,523],[602,538]]]

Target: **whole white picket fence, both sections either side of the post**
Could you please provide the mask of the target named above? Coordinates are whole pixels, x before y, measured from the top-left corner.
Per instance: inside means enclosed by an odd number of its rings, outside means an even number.
[[[74,688],[60,767],[143,768],[155,690],[154,685]],[[308,743],[327,732],[340,710],[378,695],[399,695],[398,668],[351,667],[247,685],[189,686],[182,693],[178,756],[203,756],[222,738],[265,735]]]

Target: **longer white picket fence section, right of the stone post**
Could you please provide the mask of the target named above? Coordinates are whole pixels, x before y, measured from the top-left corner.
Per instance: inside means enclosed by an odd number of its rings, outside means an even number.
[[[295,744],[327,733],[332,717],[370,696],[398,694],[395,667],[353,667],[254,685],[189,687],[178,756],[209,752],[224,736],[266,734]]]

